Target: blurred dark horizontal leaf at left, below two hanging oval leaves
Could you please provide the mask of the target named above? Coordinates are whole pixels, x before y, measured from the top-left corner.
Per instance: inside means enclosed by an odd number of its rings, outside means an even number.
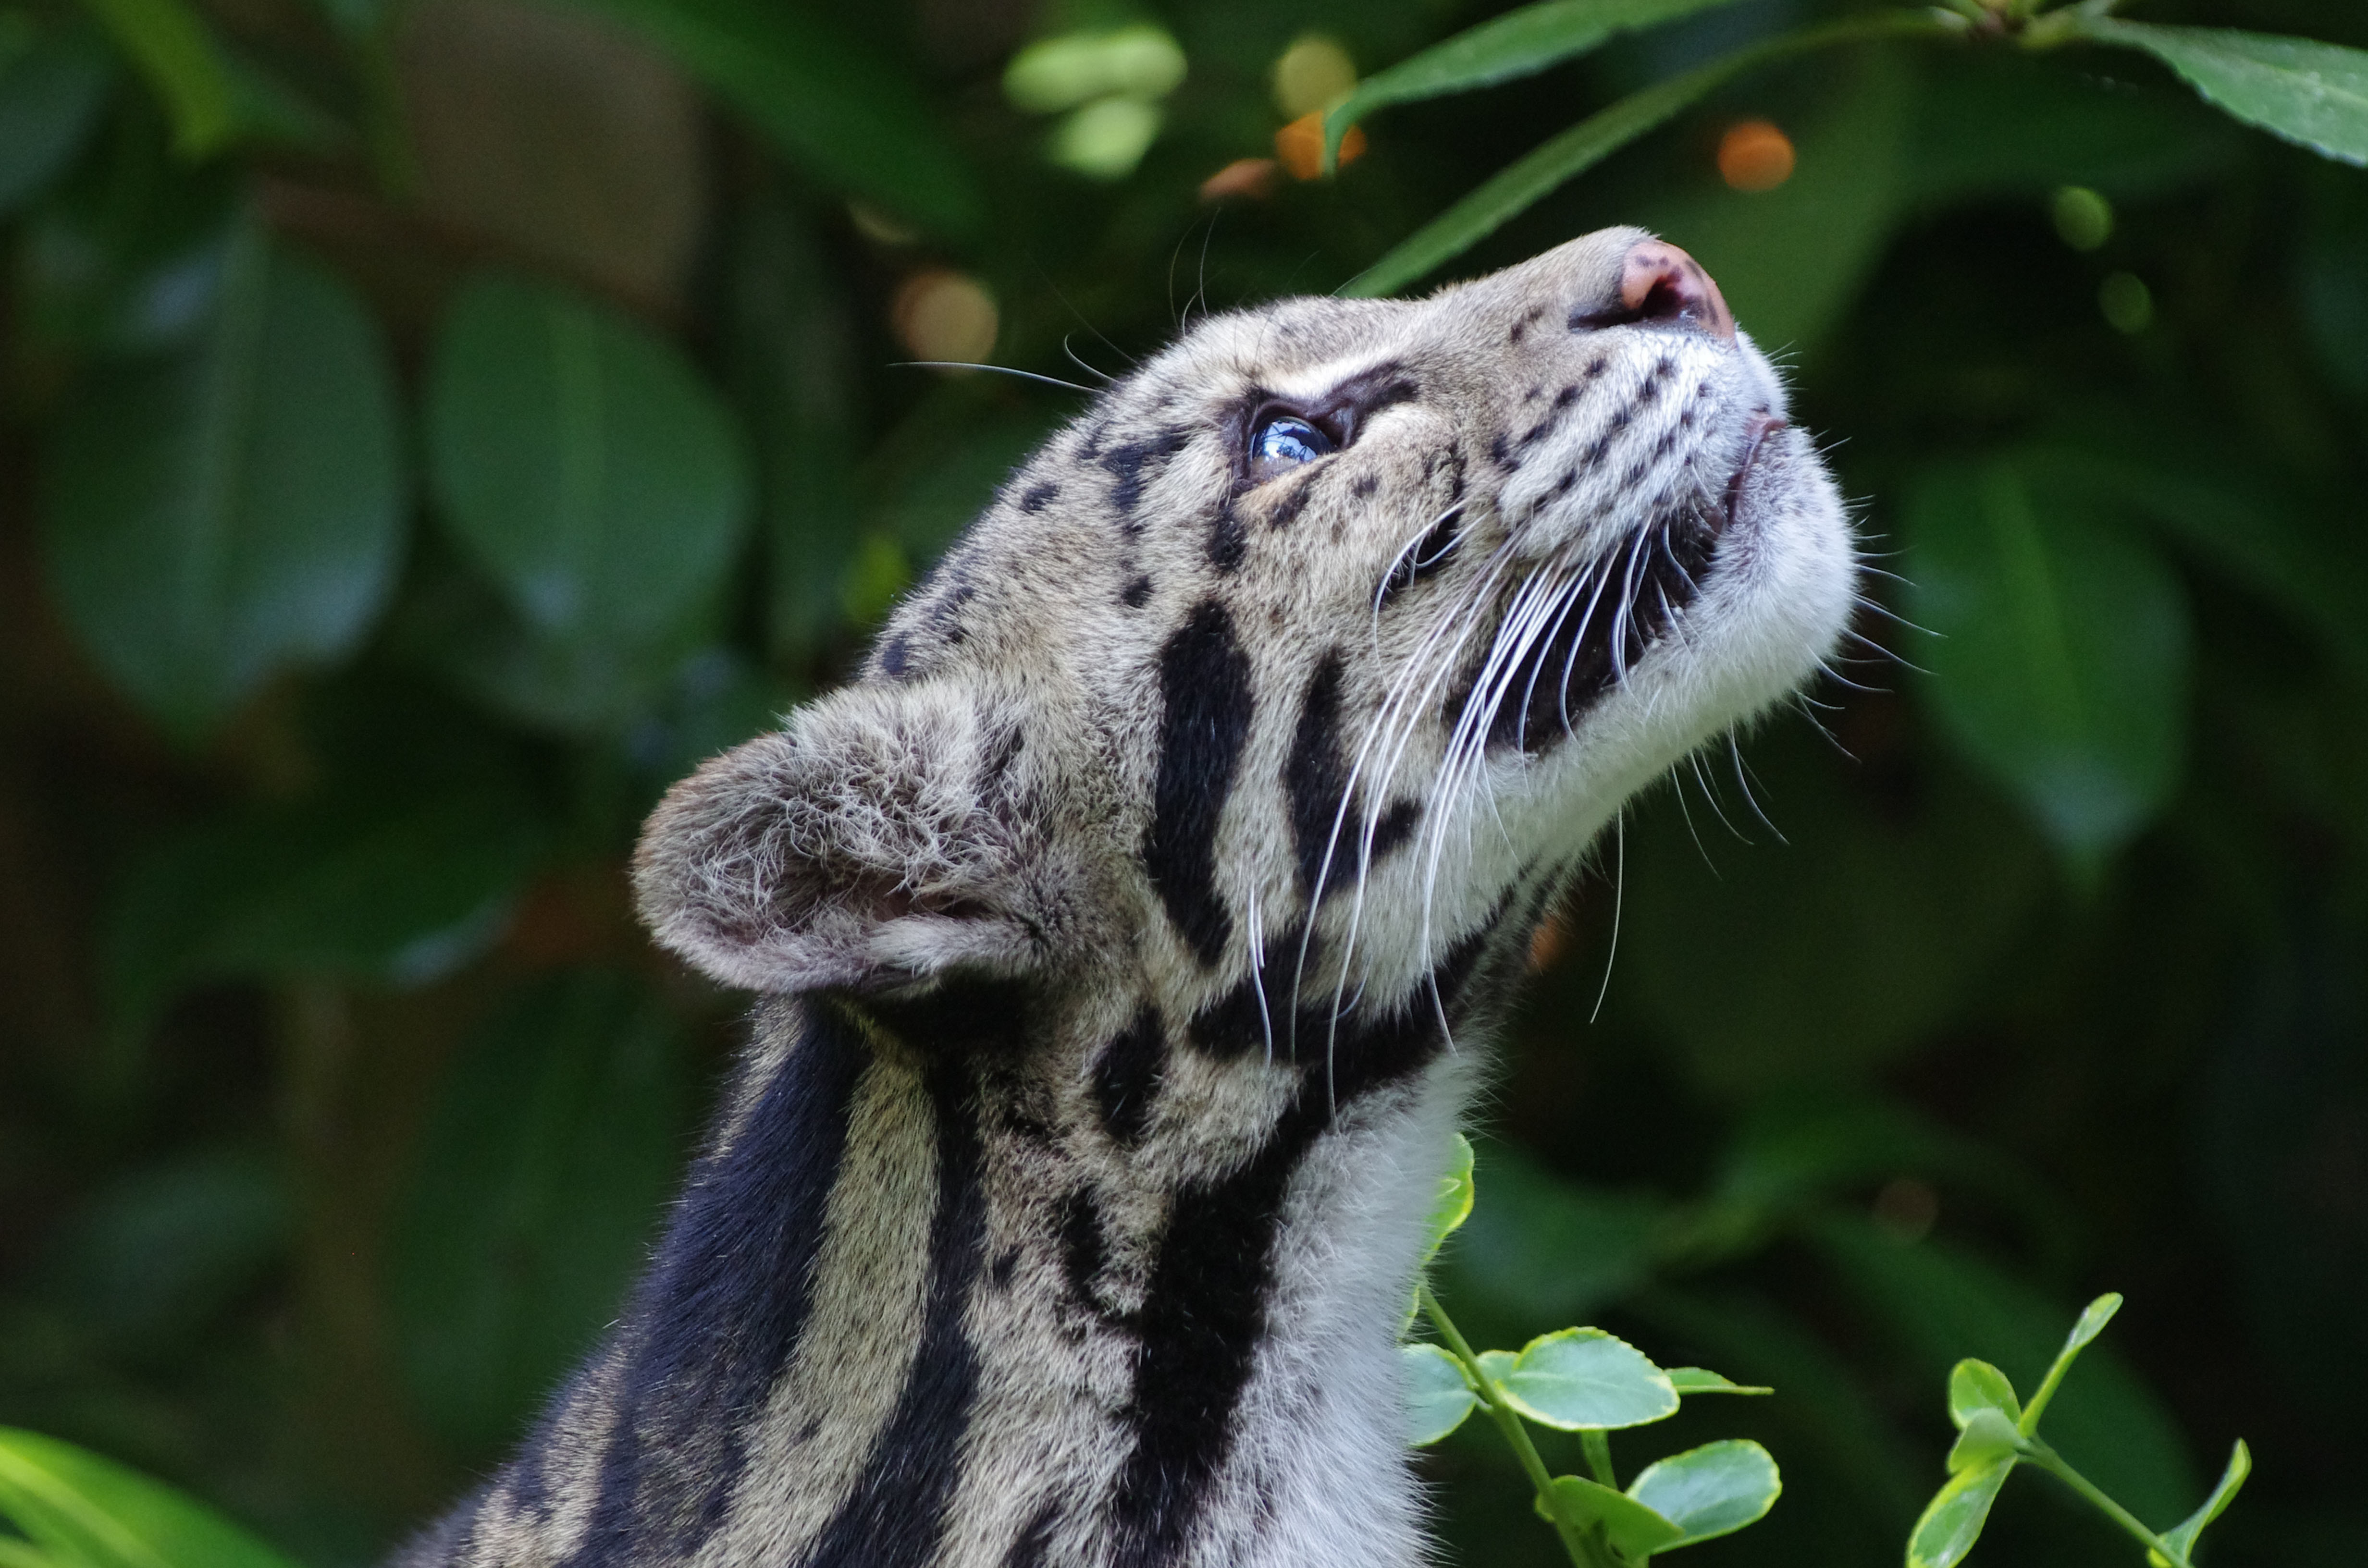
[[[502,933],[545,829],[507,782],[208,822],[133,862],[104,981],[135,1033],[197,981],[440,978]]]

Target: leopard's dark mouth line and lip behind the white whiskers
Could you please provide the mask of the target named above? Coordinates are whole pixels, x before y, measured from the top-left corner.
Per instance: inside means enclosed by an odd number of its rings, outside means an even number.
[[[1629,531],[1556,592],[1530,647],[1494,661],[1487,746],[1542,753],[1568,739],[1579,718],[1627,682],[1646,649],[1691,606],[1717,561],[1719,542],[1750,526],[1748,481],[1769,436],[1785,429],[1759,412],[1745,424],[1743,457],[1717,497],[1698,495]],[[1501,637],[1504,632],[1499,632]],[[1449,720],[1480,696],[1482,668],[1449,703]]]

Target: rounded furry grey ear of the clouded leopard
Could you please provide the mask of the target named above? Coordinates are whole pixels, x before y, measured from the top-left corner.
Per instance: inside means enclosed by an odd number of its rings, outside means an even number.
[[[708,760],[642,829],[661,947],[746,990],[883,990],[1037,969],[1058,924],[1018,708],[864,685]]]

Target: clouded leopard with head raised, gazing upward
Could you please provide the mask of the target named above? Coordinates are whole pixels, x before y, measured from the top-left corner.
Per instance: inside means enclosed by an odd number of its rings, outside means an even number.
[[[1525,936],[1852,573],[1641,232],[1193,324],[651,817],[642,914],[753,1035],[606,1345],[407,1566],[1423,1561],[1392,1343]]]

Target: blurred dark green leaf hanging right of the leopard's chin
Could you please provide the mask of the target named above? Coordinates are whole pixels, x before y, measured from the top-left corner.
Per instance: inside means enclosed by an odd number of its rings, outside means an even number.
[[[2162,810],[2186,751],[2188,616],[2162,559],[2006,462],[1909,497],[1909,613],[1944,730],[2081,874]]]

